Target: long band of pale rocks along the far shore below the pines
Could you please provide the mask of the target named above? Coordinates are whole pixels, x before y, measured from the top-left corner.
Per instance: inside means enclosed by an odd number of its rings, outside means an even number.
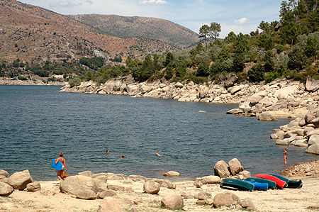
[[[276,79],[266,85],[236,84],[230,74],[223,84],[169,83],[157,80],[152,83],[136,83],[132,76],[110,79],[105,84],[82,82],[78,86],[62,87],[61,91],[91,94],[124,94],[134,97],[177,99],[178,101],[200,101],[223,104],[239,104],[239,108],[228,111],[237,116],[259,116],[269,112],[272,116],[303,116],[319,104],[318,87],[308,77],[306,87],[301,82]],[[289,115],[287,115],[289,114]],[[264,114],[264,115],[267,115]],[[263,120],[260,118],[260,120]],[[270,119],[275,119],[270,116]]]

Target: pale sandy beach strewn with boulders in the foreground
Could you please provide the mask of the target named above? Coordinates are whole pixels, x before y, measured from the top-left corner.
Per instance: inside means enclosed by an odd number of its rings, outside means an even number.
[[[315,163],[315,165],[313,165]],[[306,176],[301,167],[310,164],[313,167],[312,174]],[[302,179],[303,187],[301,189],[278,189],[268,191],[233,191],[233,194],[240,197],[252,199],[257,211],[318,211],[319,210],[319,180],[317,169],[318,162],[299,164],[290,167],[284,172],[284,176],[289,175],[289,179]],[[298,169],[298,172],[296,170]],[[293,172],[293,174],[291,174]],[[291,176],[293,175],[293,176]],[[286,176],[288,177],[288,176]],[[142,187],[144,181],[125,180],[108,180],[108,184],[118,185],[125,188],[126,191],[116,191],[113,196],[121,205],[123,211],[130,211],[135,208],[137,211],[172,211],[161,207],[160,201],[165,194],[183,192],[196,196],[200,191],[206,191],[211,194],[211,203],[213,197],[221,192],[230,191],[221,189],[219,184],[205,184],[201,188],[194,186],[194,181],[174,182],[176,189],[167,189],[161,187],[159,194],[146,194]],[[15,212],[93,212],[97,211],[101,199],[82,200],[77,199],[70,194],[63,194],[59,189],[58,181],[40,182],[41,191],[34,193],[28,191],[13,191],[13,194],[7,197],[0,197],[0,211]],[[230,208],[213,208],[209,204],[197,205],[198,199],[184,199],[184,211],[229,211]],[[210,200],[208,200],[210,201]],[[242,211],[242,209],[233,209],[233,211]]]

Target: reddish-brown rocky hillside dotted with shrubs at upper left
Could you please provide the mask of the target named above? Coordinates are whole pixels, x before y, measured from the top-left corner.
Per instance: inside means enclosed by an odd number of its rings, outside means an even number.
[[[128,55],[142,58],[176,49],[158,40],[105,35],[67,16],[19,1],[2,0],[0,5],[0,55],[8,62],[16,57],[26,62],[38,60],[39,56],[47,59],[52,52],[59,58],[70,59],[93,56],[94,50],[99,50],[111,58],[121,56],[125,59]],[[75,46],[79,45],[81,48],[77,51]]]

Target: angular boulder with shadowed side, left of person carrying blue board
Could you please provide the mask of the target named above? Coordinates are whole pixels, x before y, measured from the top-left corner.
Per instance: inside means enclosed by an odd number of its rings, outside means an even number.
[[[29,170],[24,170],[22,172],[13,173],[9,179],[8,184],[13,187],[13,189],[23,190],[26,189],[27,184],[33,182]]]

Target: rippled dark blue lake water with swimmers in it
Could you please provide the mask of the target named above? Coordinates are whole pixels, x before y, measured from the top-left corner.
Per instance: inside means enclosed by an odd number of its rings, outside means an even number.
[[[289,119],[226,115],[232,105],[59,91],[0,86],[0,169],[29,169],[35,180],[55,180],[50,164],[60,151],[71,175],[90,170],[163,178],[160,172],[174,170],[194,179],[234,157],[252,174],[285,168],[284,147],[269,135]],[[289,147],[288,165],[311,160],[318,157]]]

